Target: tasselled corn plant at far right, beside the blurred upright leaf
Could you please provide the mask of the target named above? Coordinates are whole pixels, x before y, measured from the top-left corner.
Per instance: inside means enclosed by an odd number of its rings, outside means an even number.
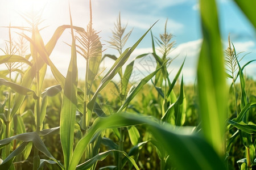
[[[255,107],[255,103],[249,102],[248,97],[245,91],[245,76],[243,74],[243,69],[245,68],[246,65],[249,63],[255,61],[251,60],[247,62],[243,67],[240,66],[240,61],[238,61],[238,54],[236,53],[236,49],[231,47],[231,42],[229,39],[229,46],[228,49],[226,50],[226,55],[228,59],[226,60],[227,65],[229,66],[229,72],[232,75],[229,75],[229,78],[232,78],[232,85],[234,89],[234,102],[236,105],[236,113],[237,113],[237,118],[233,118],[232,120],[229,120],[229,124],[233,125],[236,127],[238,130],[233,134],[233,137],[230,138],[230,141],[233,141],[234,138],[240,135],[240,138],[242,139],[243,146],[245,147],[245,159],[238,160],[237,163],[240,164],[241,169],[251,169],[253,166],[253,162],[255,159],[255,148],[253,145],[253,138],[251,134],[254,134],[253,131],[249,132],[249,129],[245,128],[247,127],[246,125],[249,124],[249,109]],[[242,57],[243,58],[243,57]],[[238,69],[237,75],[235,74],[236,69]],[[241,100],[240,100],[240,109],[238,109],[238,101],[237,101],[237,94],[236,94],[236,87],[235,87],[235,82],[236,79],[240,78],[240,87],[241,87]],[[241,114],[242,113],[242,114]],[[230,129],[232,126],[230,126]],[[253,125],[252,127],[253,128]],[[228,148],[230,148],[230,145],[232,145],[230,142],[228,143]]]

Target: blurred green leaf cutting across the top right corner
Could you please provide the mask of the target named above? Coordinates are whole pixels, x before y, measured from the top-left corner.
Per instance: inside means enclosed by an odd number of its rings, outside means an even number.
[[[247,16],[247,18],[250,20],[251,24],[254,25],[254,28],[256,29],[256,1],[254,0],[247,0],[247,1],[240,1],[240,0],[234,0],[234,2],[237,3],[237,5],[241,8],[242,12]]]

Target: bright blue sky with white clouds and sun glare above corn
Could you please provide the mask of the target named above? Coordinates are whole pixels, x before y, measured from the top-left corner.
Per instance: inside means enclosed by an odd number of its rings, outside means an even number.
[[[44,7],[42,18],[44,22],[40,25],[44,28],[41,33],[46,44],[53,35],[55,29],[63,24],[69,24],[69,9],[71,5],[71,14],[73,25],[84,27],[89,22],[89,0],[0,0],[0,48],[5,48],[5,40],[8,40],[8,29],[3,28],[9,24],[14,26],[26,25],[20,13],[30,11],[32,6],[35,10]],[[240,55],[247,54],[241,61],[241,65],[251,59],[256,59],[256,34],[255,29],[248,22],[240,9],[231,0],[218,0],[218,13],[220,20],[220,31],[224,49],[228,45],[228,35],[234,43],[237,52],[243,52]],[[164,24],[167,22],[167,32],[174,35],[175,46],[168,57],[175,58],[168,67],[171,79],[177,73],[181,63],[185,59],[183,76],[185,83],[193,83],[196,79],[196,67],[200,45],[202,41],[199,4],[195,0],[92,0],[93,10],[93,28],[99,31],[101,42],[104,44],[104,54],[115,54],[118,52],[109,47],[108,41],[112,36],[114,23],[117,20],[119,12],[121,13],[121,23],[127,24],[126,32],[133,29],[125,48],[132,46],[148,28],[156,21],[152,27],[152,33],[159,37],[164,32]],[[15,39],[16,29],[12,30]],[[56,67],[65,76],[69,65],[71,50],[65,42],[71,44],[71,34],[67,30],[63,33],[57,42],[50,58]],[[139,54],[152,52],[150,33],[131,54],[129,61]],[[2,54],[0,52],[0,54]],[[160,53],[159,53],[160,56]],[[85,59],[79,56],[78,67],[79,77],[84,78]],[[129,61],[127,63],[129,63]],[[106,59],[101,65],[106,70],[113,64],[113,61]],[[155,69],[156,63],[150,56],[146,56],[135,62],[133,81],[138,81],[143,76],[151,73]],[[4,69],[4,65],[0,68]],[[246,75],[256,79],[256,62],[246,67]],[[104,73],[102,73],[104,74]],[[51,71],[47,71],[51,76]]]

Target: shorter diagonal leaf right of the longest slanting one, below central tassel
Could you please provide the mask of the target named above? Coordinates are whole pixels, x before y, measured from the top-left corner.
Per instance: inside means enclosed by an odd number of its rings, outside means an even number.
[[[135,95],[138,94],[138,92],[141,90],[141,88],[144,86],[144,84],[146,84],[159,70],[161,69],[161,67],[159,67],[159,69],[155,70],[153,73],[151,73],[150,75],[147,75],[145,78],[143,78],[136,87],[134,87],[133,90],[131,90],[130,94],[127,96],[126,100],[123,102],[123,105],[118,109],[117,113],[120,113],[123,111],[123,109],[125,109],[127,107],[127,105],[130,103],[130,101],[135,97]]]

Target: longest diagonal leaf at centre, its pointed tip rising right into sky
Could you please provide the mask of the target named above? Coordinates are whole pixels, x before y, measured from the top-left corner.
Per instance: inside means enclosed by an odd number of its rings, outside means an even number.
[[[153,24],[154,26],[154,24]],[[151,29],[152,27],[150,27]],[[150,29],[148,29],[148,31],[150,31]],[[122,68],[122,66],[125,64],[125,62],[127,61],[127,59],[130,57],[131,53],[134,51],[134,49],[138,46],[139,42],[142,41],[142,39],[144,38],[144,36],[146,36],[146,34],[148,33],[148,31],[146,33],[144,33],[144,35],[129,49],[126,49],[125,52],[123,52],[121,54],[121,56],[115,61],[114,65],[111,67],[111,69],[108,71],[108,73],[104,76],[104,78],[102,78],[101,82],[100,82],[100,86],[97,88],[96,92],[94,93],[92,99],[89,101],[88,103],[88,109],[90,109],[90,111],[93,111],[94,108],[94,104],[97,98],[98,93],[104,88],[106,87],[106,85],[110,82],[110,80],[112,80],[114,78],[114,76],[118,73],[118,71]]]

